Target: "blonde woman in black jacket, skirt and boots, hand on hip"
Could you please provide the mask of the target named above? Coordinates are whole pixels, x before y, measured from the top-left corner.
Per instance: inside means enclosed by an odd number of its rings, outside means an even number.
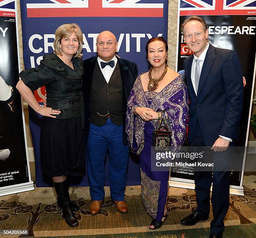
[[[41,124],[41,161],[44,173],[52,177],[69,226],[78,224],[70,202],[67,176],[84,173],[84,102],[81,59],[83,36],[77,24],[64,24],[55,32],[54,53],[44,55],[37,68],[23,70],[16,85],[21,96],[37,113]],[[47,105],[41,107],[33,95],[43,85]]]

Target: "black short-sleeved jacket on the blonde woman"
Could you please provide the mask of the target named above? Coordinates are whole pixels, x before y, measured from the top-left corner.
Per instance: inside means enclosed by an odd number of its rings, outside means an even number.
[[[74,70],[67,66],[54,53],[44,55],[37,68],[23,70],[20,78],[31,90],[46,86],[47,107],[60,109],[57,119],[82,116],[84,103],[82,97],[83,62],[73,58]],[[82,120],[83,125],[83,120]]]

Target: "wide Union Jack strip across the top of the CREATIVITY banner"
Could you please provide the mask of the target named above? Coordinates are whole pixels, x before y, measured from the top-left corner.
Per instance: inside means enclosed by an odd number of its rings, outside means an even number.
[[[163,17],[164,9],[164,4],[158,0],[31,0],[27,2],[28,18]]]

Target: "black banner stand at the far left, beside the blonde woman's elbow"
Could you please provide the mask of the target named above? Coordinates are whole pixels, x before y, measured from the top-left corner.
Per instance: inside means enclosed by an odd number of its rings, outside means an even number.
[[[17,1],[0,1],[1,60],[0,75],[6,85],[13,88],[10,101],[0,101],[1,144],[0,149],[9,150],[9,155],[0,161],[0,196],[34,190],[28,160],[28,146],[23,109],[23,100],[15,89],[20,72]],[[16,39],[15,39],[16,38]],[[16,40],[16,42],[15,42]],[[8,47],[6,47],[8,45]],[[4,47],[4,48],[3,48]]]

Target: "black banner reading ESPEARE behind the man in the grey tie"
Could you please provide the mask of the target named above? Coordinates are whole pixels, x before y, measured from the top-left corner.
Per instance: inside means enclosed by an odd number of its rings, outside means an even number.
[[[241,63],[244,87],[243,113],[240,122],[238,146],[246,146],[249,132],[250,104],[254,87],[255,72],[255,34],[256,34],[256,0],[179,0],[179,23],[177,29],[191,15],[202,17],[208,25],[209,43],[218,48],[236,51]],[[177,70],[184,69],[184,60],[193,54],[184,42],[179,30],[177,47]],[[228,72],[223,72],[228,74]],[[241,79],[242,80],[242,79]],[[245,156],[243,158],[245,160]],[[175,179],[172,179],[174,176]],[[191,179],[187,175],[171,173],[171,180]],[[171,182],[172,184],[172,182]],[[243,172],[230,173],[230,192],[243,194]]]

